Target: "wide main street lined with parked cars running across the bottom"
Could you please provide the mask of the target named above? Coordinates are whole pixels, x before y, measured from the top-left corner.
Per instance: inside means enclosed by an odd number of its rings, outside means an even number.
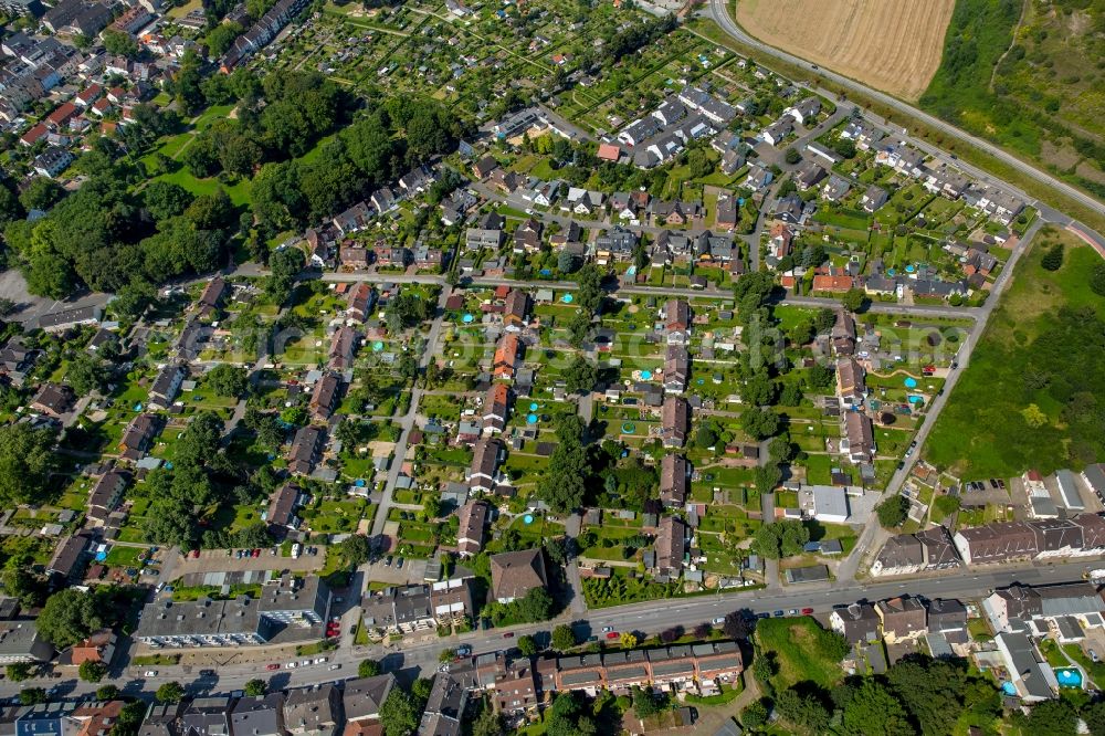
[[[977,600],[991,589],[1011,582],[1048,585],[1080,580],[1082,574],[1095,565],[1091,560],[1054,566],[1025,564],[1001,566],[993,569],[961,569],[950,574],[908,580],[891,579],[870,583],[835,581],[790,586],[778,591],[736,591],[661,602],[646,601],[591,611],[587,622],[582,623],[580,628],[587,633],[594,632],[597,634],[601,632],[603,627],[610,627],[614,631],[636,631],[651,634],[674,625],[690,629],[697,623],[712,621],[739,608],[748,608],[757,613],[770,613],[778,610],[789,612],[792,609],[812,608],[817,614],[823,616],[836,604],[851,603],[856,600],[875,601],[906,593],[926,598]],[[423,670],[432,669],[436,666],[438,654],[443,649],[465,643],[471,645],[476,653],[502,650],[517,641],[516,637],[538,631],[550,631],[557,623],[569,620],[570,617],[543,624],[513,627],[508,631],[514,632],[515,638],[511,640],[504,639],[504,631],[495,630],[475,631],[446,639],[439,639],[434,632],[430,632],[421,641],[391,646],[351,648],[347,641],[344,641],[340,649],[326,654],[327,662],[324,664],[312,664],[295,670],[281,669],[277,672],[261,670],[257,664],[228,664],[218,667],[218,677],[196,682],[192,682],[196,679],[193,672],[202,669],[202,665],[194,665],[192,670],[187,672],[180,666],[152,666],[148,669],[156,671],[157,674],[150,677],[143,674],[147,667],[128,667],[115,677],[115,682],[126,693],[145,694],[147,697],[161,684],[172,681],[186,683],[193,693],[240,690],[254,677],[271,677],[273,686],[276,687],[303,686],[356,676],[356,664],[367,658],[382,660],[388,670],[413,666]],[[212,654],[218,655],[218,652],[212,652]],[[271,661],[284,662],[286,659],[290,658],[274,654]],[[329,670],[334,664],[338,664],[339,669]],[[24,683],[3,680],[0,681],[0,696],[12,696],[18,694],[22,687],[39,684],[57,685],[60,695],[88,694],[95,692],[96,688],[95,684],[76,680],[29,681]]]

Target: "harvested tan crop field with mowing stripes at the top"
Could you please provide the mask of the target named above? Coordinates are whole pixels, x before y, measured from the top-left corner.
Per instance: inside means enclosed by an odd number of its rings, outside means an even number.
[[[940,65],[955,0],[737,0],[737,22],[772,46],[904,99]]]

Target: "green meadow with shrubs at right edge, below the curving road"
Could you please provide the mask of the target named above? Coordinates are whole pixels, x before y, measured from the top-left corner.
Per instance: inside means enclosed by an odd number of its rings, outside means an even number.
[[[1066,252],[1051,272],[1040,261],[1054,242]],[[925,445],[929,461],[976,479],[1105,458],[1105,438],[1090,419],[1093,397],[1105,393],[1105,299],[1087,285],[1099,263],[1070,233],[1040,232]],[[1078,312],[1064,318],[1064,311]],[[1025,414],[1031,406],[1040,416]]]

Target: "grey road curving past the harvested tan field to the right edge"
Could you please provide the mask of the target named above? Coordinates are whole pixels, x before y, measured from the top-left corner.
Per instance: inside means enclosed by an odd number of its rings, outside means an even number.
[[[768,55],[775,56],[776,59],[782,60],[789,64],[796,64],[798,66],[803,66],[803,67],[809,66],[809,62],[799,59],[798,56],[788,54],[785,51],[780,51],[779,49],[776,49],[774,46],[769,46],[765,43],[761,43],[760,41],[757,41],[753,36],[745,33],[745,31],[739,25],[737,25],[736,21],[734,21],[734,19],[729,15],[727,3],[725,0],[709,0],[708,14],[723,31],[732,35],[740,43],[751,46],[757,51],[760,51]],[[911,117],[922,120],[923,123],[925,123],[925,125],[934,129],[937,129],[947,136],[967,143],[974,146],[975,148],[978,148],[979,150],[982,150],[986,154],[993,156],[994,158],[1001,160],[1002,162],[1012,166],[1018,171],[1032,177],[1036,181],[1040,181],[1041,183],[1044,183],[1048,187],[1056,191],[1060,191],[1063,194],[1066,194],[1071,199],[1074,199],[1077,202],[1091,208],[1095,212],[1098,212],[1099,214],[1105,214],[1105,203],[1102,203],[1097,199],[1091,197],[1090,194],[1086,194],[1080,189],[1076,189],[1071,185],[1064,181],[1060,181],[1055,177],[1044,171],[1041,171],[1040,169],[1031,166],[1030,164],[1027,164],[1020,158],[1017,158],[1012,154],[1009,154],[1008,151],[1003,150],[1002,148],[999,148],[998,146],[994,146],[993,144],[987,140],[972,136],[969,133],[966,133],[965,130],[961,130],[956,126],[950,125],[949,123],[945,123],[944,120],[934,117],[928,113],[917,109],[916,107],[909,105],[908,103],[902,102],[901,99],[893,97],[886,93],[873,90],[864,84],[856,82],[855,80],[842,76],[840,74],[836,74],[835,72],[831,72],[824,69],[819,70],[819,74],[821,74],[821,76],[823,76],[824,78],[831,80],[832,82],[835,82],[836,84],[848,90],[852,90],[853,92],[857,92],[873,99],[877,99],[880,103],[884,105],[893,107],[894,109],[904,113],[905,115],[909,115]]]

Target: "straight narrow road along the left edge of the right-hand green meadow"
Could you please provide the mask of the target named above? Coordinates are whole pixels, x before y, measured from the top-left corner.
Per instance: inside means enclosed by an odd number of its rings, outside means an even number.
[[[990,290],[990,296],[986,299],[986,304],[982,305],[978,319],[975,320],[975,325],[967,333],[967,338],[964,340],[962,346],[959,348],[957,354],[957,362],[959,367],[948,374],[947,379],[944,382],[944,392],[937,396],[933,403],[928,407],[928,411],[925,413],[925,418],[922,420],[920,428],[917,430],[917,434],[914,440],[917,443],[917,449],[912,456],[905,459],[905,464],[894,473],[891,477],[890,483],[886,484],[886,490],[883,492],[883,497],[890,497],[901,491],[902,485],[905,480],[909,476],[909,472],[913,470],[914,464],[920,458],[920,450],[924,448],[925,440],[928,439],[929,432],[932,432],[933,427],[936,425],[936,419],[944,411],[944,407],[947,404],[948,398],[951,396],[953,389],[955,389],[956,383],[959,382],[959,377],[964,374],[967,365],[970,362],[971,353],[978,347],[978,341],[982,337],[982,333],[986,330],[986,325],[990,319],[990,314],[998,306],[998,302],[1001,298],[1002,292],[1009,284],[1010,278],[1013,274],[1013,267],[1020,260],[1021,255],[1030,246],[1032,239],[1035,236],[1036,232],[1043,225],[1041,220],[1033,222],[1024,233],[1024,238],[1020,240],[1013,252],[1010,253],[1009,260],[1006,261],[1006,265],[1002,267],[1001,273],[993,282],[993,287]],[[883,529],[882,525],[878,524],[878,517],[876,514],[871,514],[864,524],[863,532],[860,534],[860,539],[852,553],[841,562],[840,568],[836,570],[836,577],[842,580],[854,579],[857,569],[860,568],[861,561],[869,561],[874,555],[878,553],[882,546],[886,543],[890,534]]]

